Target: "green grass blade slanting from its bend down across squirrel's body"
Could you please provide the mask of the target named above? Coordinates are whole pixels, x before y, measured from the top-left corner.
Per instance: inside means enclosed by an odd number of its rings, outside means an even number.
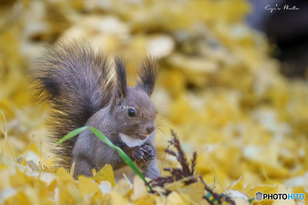
[[[130,166],[132,168],[132,170],[138,175],[140,176],[140,178],[144,181],[144,183],[147,183],[147,181],[145,180],[143,174],[140,172],[140,170],[136,167],[136,165],[133,163],[133,161],[127,156],[127,154],[119,147],[115,146],[114,144],[112,144],[112,142],[105,136],[103,135],[103,133],[101,133],[99,130],[89,127],[89,129],[100,139],[102,140],[104,143],[108,144],[110,147],[112,147],[113,149],[115,149],[120,157],[124,160],[124,162]],[[152,190],[152,187],[150,185],[148,185],[148,188]]]

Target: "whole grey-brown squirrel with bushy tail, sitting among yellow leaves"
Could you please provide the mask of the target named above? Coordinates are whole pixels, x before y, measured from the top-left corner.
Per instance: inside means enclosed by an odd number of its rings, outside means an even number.
[[[35,63],[34,99],[50,108],[47,123],[52,145],[75,128],[91,126],[154,179],[160,175],[154,145],[157,110],[150,97],[158,77],[157,60],[144,58],[134,87],[127,85],[123,59],[115,56],[114,61],[112,77],[101,51],[95,52],[84,41],[58,42]],[[134,176],[119,154],[89,129],[51,149],[58,166],[69,170],[75,162],[74,178],[92,176],[93,168],[99,171],[105,164],[112,166],[116,179],[123,172],[130,179]]]

